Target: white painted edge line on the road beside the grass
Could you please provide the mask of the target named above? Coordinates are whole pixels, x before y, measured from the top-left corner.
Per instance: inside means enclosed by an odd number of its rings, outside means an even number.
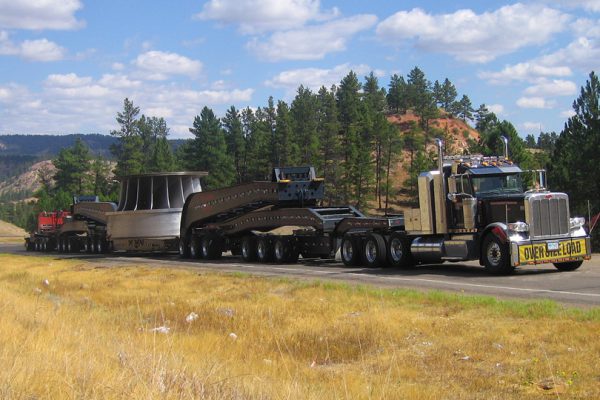
[[[231,264],[231,265],[236,268],[246,268],[246,269],[260,268],[260,269],[265,270],[264,266],[253,266],[253,265],[245,265],[245,264]],[[336,275],[336,274],[339,274],[339,271],[324,271],[324,270],[318,270],[318,269],[301,270],[301,269],[297,269],[297,268],[271,268],[270,271],[271,272],[288,271],[288,272],[306,273],[306,274],[314,274],[314,275]],[[384,278],[381,276],[373,276],[373,275],[369,275],[369,274],[363,274],[360,272],[351,272],[351,271],[346,271],[346,272],[349,274],[352,274],[354,276],[361,276],[361,277],[365,277],[370,280],[385,279],[385,280],[395,280],[395,281],[405,281],[405,282],[436,283],[436,284],[442,284],[442,285],[452,285],[452,286],[462,286],[462,287],[468,286],[468,287],[485,288],[485,289],[512,290],[512,291],[516,291],[516,292],[552,293],[552,294],[565,294],[565,295],[573,295],[573,296],[600,297],[600,293],[582,293],[582,292],[568,292],[568,291],[564,291],[564,290],[519,288],[519,287],[514,287],[514,286],[485,285],[485,284],[477,284],[477,283],[443,281],[443,280],[437,280],[437,279],[405,278],[405,277],[400,277],[400,276],[385,276],[385,278]]]

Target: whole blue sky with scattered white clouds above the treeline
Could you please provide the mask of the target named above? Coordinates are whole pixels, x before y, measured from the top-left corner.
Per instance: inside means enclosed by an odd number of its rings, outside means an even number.
[[[204,106],[414,66],[522,136],[559,132],[600,72],[600,0],[0,0],[0,134],[108,134],[128,97],[185,138]]]

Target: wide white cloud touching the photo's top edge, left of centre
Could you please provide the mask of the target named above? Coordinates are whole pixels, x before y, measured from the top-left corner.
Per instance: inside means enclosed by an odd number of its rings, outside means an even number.
[[[256,34],[299,28],[308,21],[336,16],[337,9],[321,11],[319,0],[210,0],[196,17],[238,24],[240,32]]]

